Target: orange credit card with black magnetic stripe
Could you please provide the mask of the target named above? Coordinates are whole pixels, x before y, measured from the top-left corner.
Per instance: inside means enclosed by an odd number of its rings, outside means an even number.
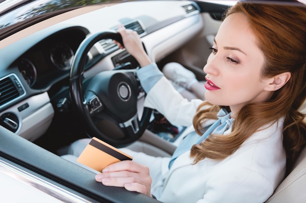
[[[97,171],[102,171],[110,164],[132,160],[133,157],[117,148],[93,137],[78,158],[78,162]]]

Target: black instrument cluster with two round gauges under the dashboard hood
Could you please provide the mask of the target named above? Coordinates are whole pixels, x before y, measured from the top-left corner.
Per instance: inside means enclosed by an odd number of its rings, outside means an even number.
[[[73,56],[86,31],[69,28],[45,38],[16,61],[26,84],[32,89],[43,89],[69,75]]]

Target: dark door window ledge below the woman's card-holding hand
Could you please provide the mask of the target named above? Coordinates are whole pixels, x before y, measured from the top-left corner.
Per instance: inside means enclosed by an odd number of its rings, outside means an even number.
[[[95,174],[0,126],[0,156],[85,199],[100,203],[158,203],[122,187],[104,186]]]

